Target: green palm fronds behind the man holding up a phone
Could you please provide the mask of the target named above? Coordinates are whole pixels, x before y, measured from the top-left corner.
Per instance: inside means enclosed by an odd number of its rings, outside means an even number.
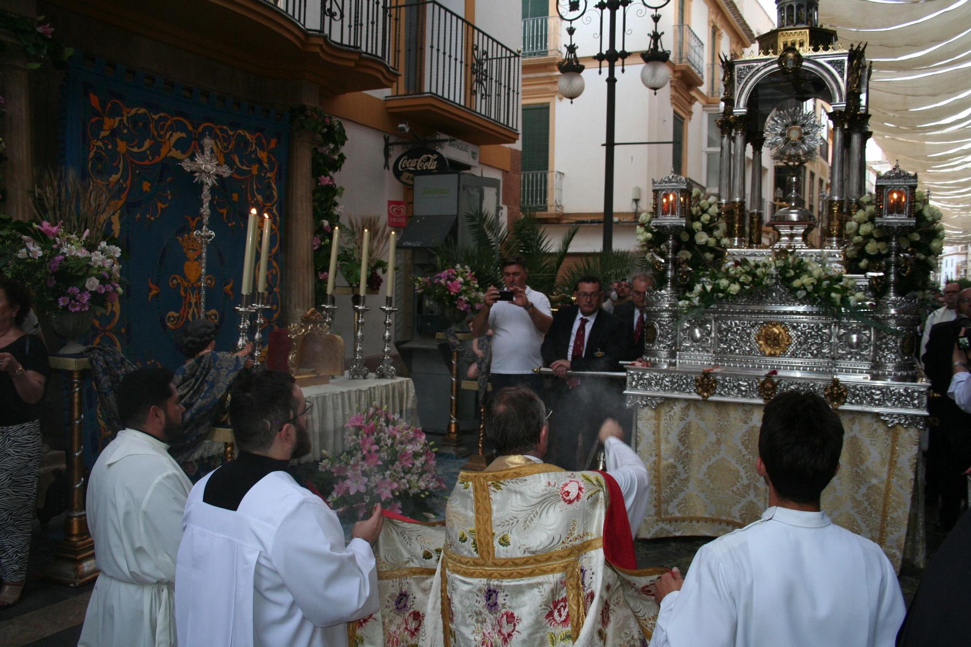
[[[511,227],[488,211],[468,213],[465,220],[469,224],[472,245],[463,247],[453,241],[443,243],[437,250],[439,269],[468,265],[484,289],[502,286],[499,264],[503,258],[522,255],[529,272],[529,287],[552,294],[559,268],[579,230],[577,225],[570,227],[554,249],[535,214],[523,214]]]

